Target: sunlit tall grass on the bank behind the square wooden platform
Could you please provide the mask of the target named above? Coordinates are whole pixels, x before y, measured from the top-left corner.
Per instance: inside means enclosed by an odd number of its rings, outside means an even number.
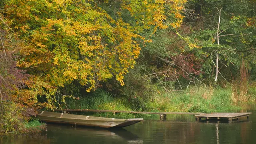
[[[188,91],[155,95],[147,104],[151,111],[230,112],[241,109],[232,102],[232,90],[193,87]]]

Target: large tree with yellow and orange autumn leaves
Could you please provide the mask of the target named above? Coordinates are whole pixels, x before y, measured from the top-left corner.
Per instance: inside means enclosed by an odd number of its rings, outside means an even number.
[[[31,75],[19,99],[46,97],[53,108],[61,87],[79,81],[86,91],[135,65],[141,45],[168,26],[177,28],[185,0],[10,0],[1,13],[25,43],[17,66]],[[112,11],[110,11],[112,10]],[[34,102],[37,103],[37,102]]]

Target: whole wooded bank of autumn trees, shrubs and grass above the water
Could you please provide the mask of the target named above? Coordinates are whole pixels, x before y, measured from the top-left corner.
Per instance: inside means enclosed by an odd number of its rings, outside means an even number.
[[[240,110],[255,45],[256,0],[0,0],[0,133],[40,109]]]

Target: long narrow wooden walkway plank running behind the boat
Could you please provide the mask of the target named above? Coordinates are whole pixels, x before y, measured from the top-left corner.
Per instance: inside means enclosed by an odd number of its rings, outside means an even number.
[[[126,112],[126,113],[133,113],[133,114],[204,114],[200,112],[136,112],[136,111],[124,111],[124,110],[89,110],[89,109],[54,109],[55,111],[69,111],[69,112]]]

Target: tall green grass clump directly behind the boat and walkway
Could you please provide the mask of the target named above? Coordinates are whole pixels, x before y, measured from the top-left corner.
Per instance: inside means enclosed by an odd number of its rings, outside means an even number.
[[[83,97],[82,99],[67,99],[66,105],[63,108],[69,109],[95,109],[95,110],[126,110],[132,111],[128,106],[128,101],[124,98],[114,98],[112,94],[98,90]],[[148,118],[150,116],[145,114],[130,114],[130,113],[117,113],[112,112],[75,112],[76,114],[86,114],[101,117],[112,117],[112,118]]]

